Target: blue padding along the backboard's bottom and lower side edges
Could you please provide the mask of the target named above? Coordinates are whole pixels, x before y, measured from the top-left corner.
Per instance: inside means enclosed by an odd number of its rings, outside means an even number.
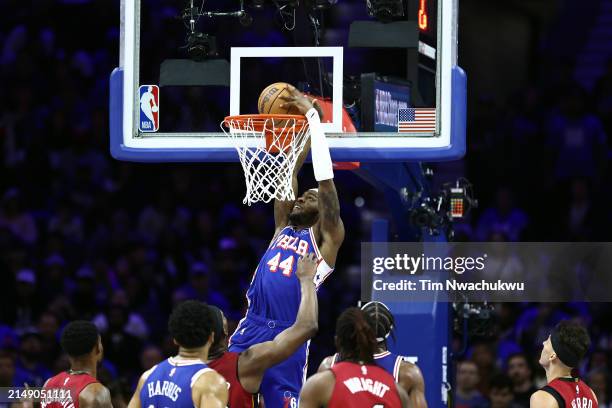
[[[467,77],[460,67],[452,72],[453,103],[451,143],[444,148],[332,149],[334,161],[447,161],[463,157],[466,150]],[[131,162],[236,162],[233,148],[146,149],[123,144],[123,70],[110,76],[110,151],[113,158]]]

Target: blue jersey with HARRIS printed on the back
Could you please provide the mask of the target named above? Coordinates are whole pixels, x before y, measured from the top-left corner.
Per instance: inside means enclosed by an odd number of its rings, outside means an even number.
[[[193,407],[191,387],[207,371],[201,360],[170,357],[151,370],[140,390],[140,406]]]

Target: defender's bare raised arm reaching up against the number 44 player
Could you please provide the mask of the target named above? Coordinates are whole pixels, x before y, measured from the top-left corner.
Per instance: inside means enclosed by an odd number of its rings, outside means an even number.
[[[293,325],[274,340],[251,346],[238,360],[241,383],[251,392],[257,392],[264,372],[289,358],[318,330],[318,303],[313,279],[317,270],[317,259],[310,253],[298,260],[296,275],[300,280],[302,298],[297,318]]]

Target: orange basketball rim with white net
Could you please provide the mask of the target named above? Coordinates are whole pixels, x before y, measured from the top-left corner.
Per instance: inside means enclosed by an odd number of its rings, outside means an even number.
[[[310,137],[306,117],[228,116],[221,129],[233,141],[244,170],[244,204],[295,200],[293,170]]]

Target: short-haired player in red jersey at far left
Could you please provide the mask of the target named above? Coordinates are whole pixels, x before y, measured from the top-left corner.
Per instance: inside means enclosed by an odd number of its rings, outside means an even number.
[[[96,379],[102,361],[102,340],[96,326],[85,320],[68,323],[60,340],[68,354],[70,370],[47,380],[46,389],[68,389],[74,408],[112,408],[110,392]],[[43,408],[67,406],[59,401],[42,404]]]

